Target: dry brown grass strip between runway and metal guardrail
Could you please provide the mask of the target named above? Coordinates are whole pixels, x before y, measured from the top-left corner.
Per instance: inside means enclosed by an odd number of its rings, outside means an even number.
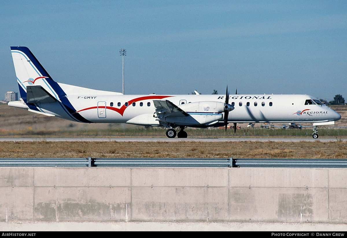
[[[347,158],[347,142],[0,142],[1,158]]]

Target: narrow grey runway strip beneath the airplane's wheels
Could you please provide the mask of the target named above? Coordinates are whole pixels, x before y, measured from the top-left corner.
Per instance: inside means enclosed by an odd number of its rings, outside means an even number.
[[[347,138],[276,138],[276,137],[249,137],[249,138],[149,138],[149,137],[122,137],[122,138],[0,138],[0,142],[346,142]]]

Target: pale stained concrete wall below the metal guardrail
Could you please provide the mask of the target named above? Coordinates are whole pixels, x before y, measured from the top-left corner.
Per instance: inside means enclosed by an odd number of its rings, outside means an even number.
[[[0,221],[347,223],[346,172],[0,168]]]

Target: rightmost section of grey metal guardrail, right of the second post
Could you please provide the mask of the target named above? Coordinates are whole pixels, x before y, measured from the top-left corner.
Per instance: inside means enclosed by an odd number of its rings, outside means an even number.
[[[232,167],[347,168],[347,159],[232,159]]]

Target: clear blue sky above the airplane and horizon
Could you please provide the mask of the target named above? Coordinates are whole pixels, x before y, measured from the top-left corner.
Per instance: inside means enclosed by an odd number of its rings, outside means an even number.
[[[347,100],[347,1],[1,1],[0,100],[10,46],[57,82],[125,94],[308,94]]]

